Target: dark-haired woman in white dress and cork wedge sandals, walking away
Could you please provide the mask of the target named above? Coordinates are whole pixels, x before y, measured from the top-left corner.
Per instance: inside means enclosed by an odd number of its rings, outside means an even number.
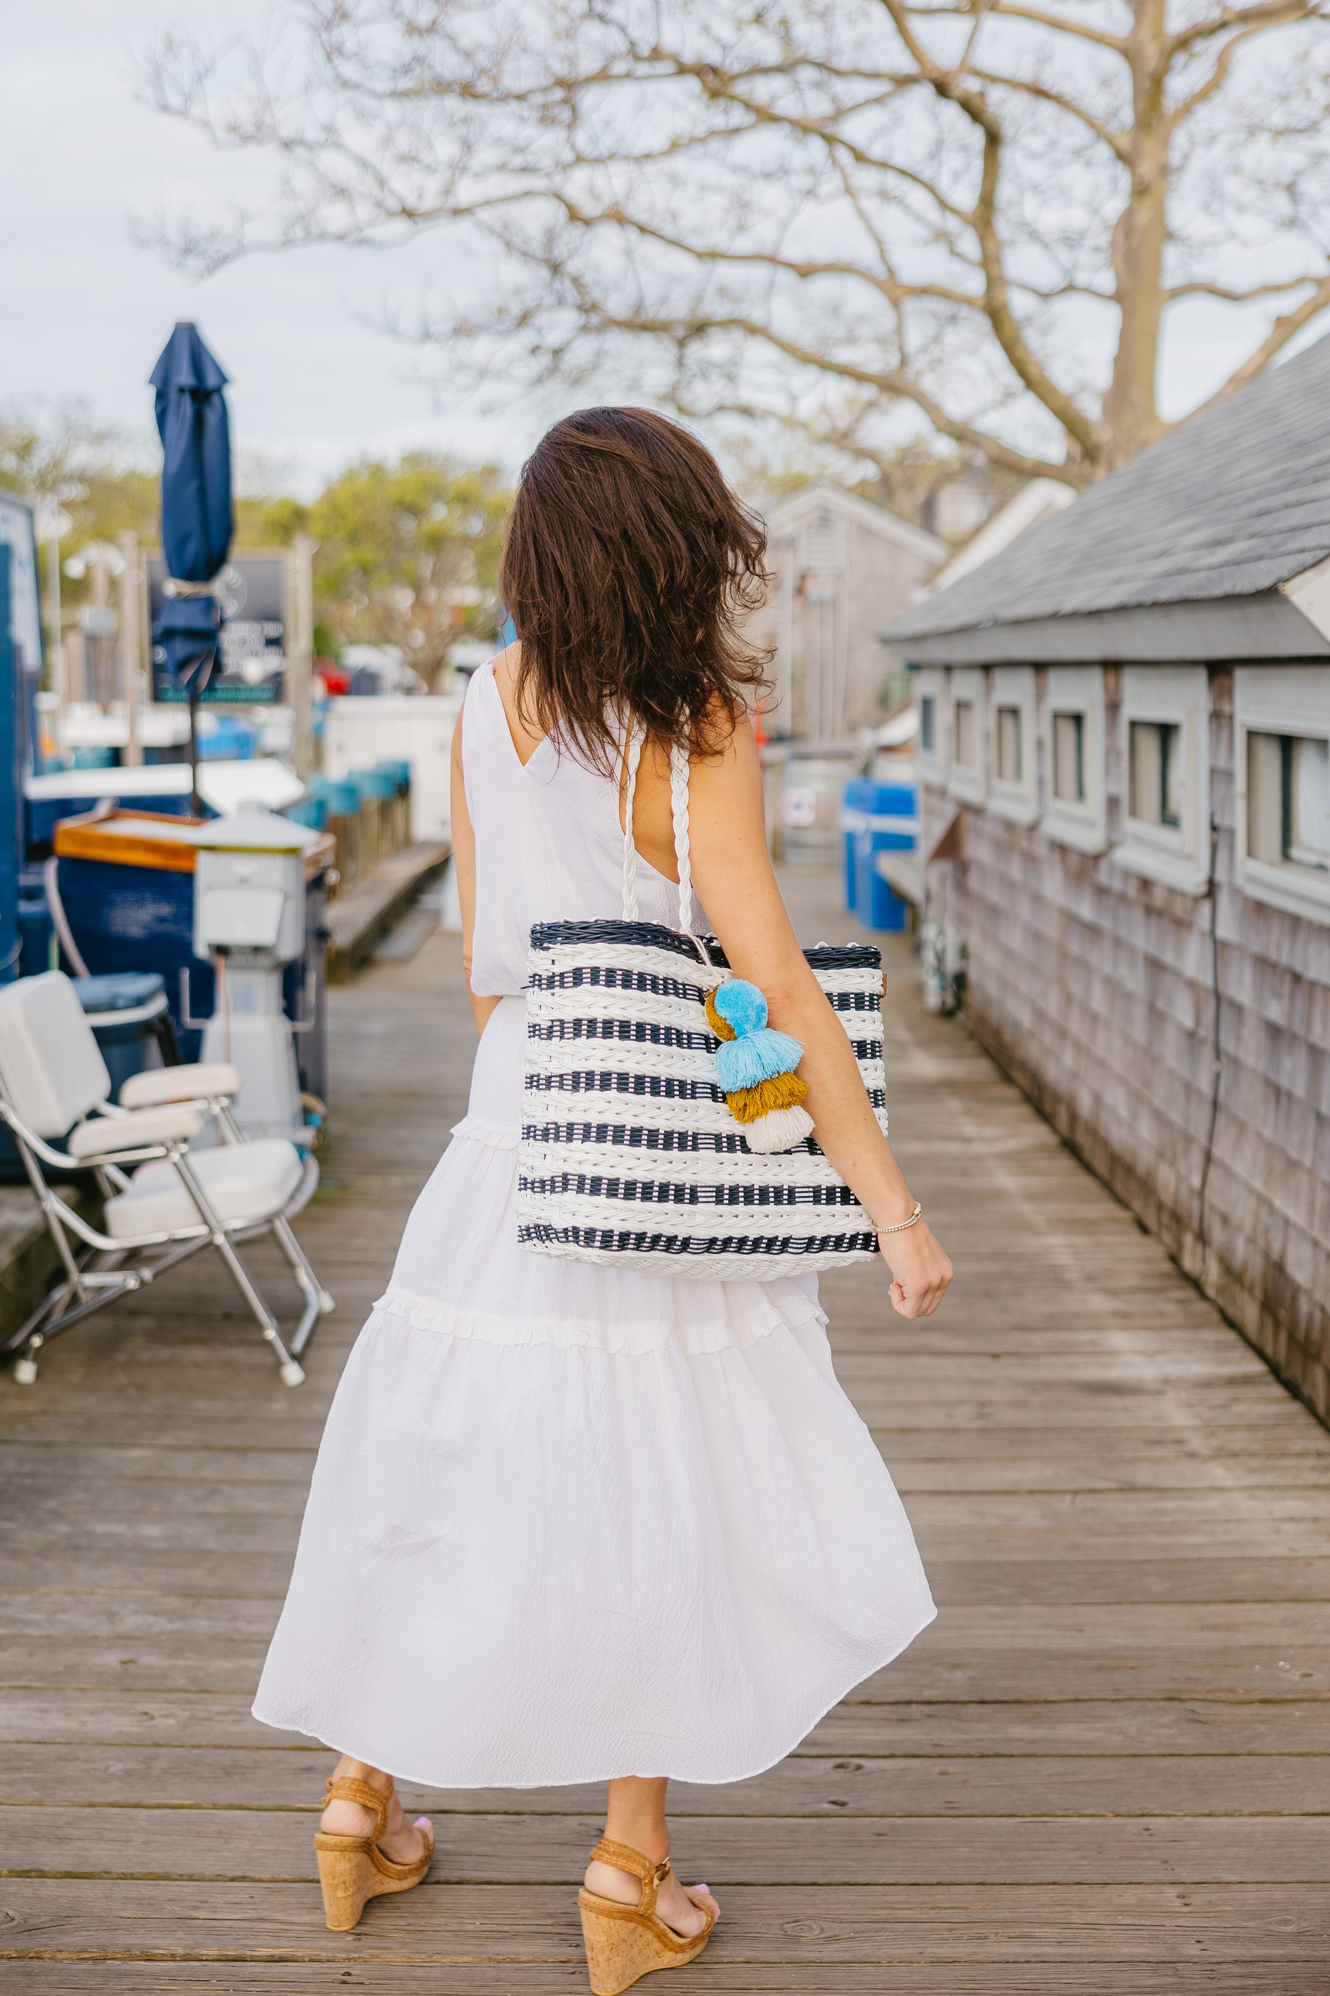
[[[768,860],[762,661],[738,635],[764,551],[708,451],[646,409],[582,409],[522,471],[502,565],[520,637],[475,675],[453,756],[469,1114],[337,1389],[255,1703],[343,1754],[315,1838],[329,1926],[429,1868],[393,1776],[608,1780],[578,1894],[598,1992],[692,1960],[718,1918],[668,1864],[666,1780],[780,1760],[933,1617],[814,1273],[670,1279],[516,1242],[528,932],[620,914],[640,723],[640,918],[678,924],[686,743],[698,926],[804,1044],[818,1142],[887,1230],[893,1309],[931,1315],[951,1279]]]

